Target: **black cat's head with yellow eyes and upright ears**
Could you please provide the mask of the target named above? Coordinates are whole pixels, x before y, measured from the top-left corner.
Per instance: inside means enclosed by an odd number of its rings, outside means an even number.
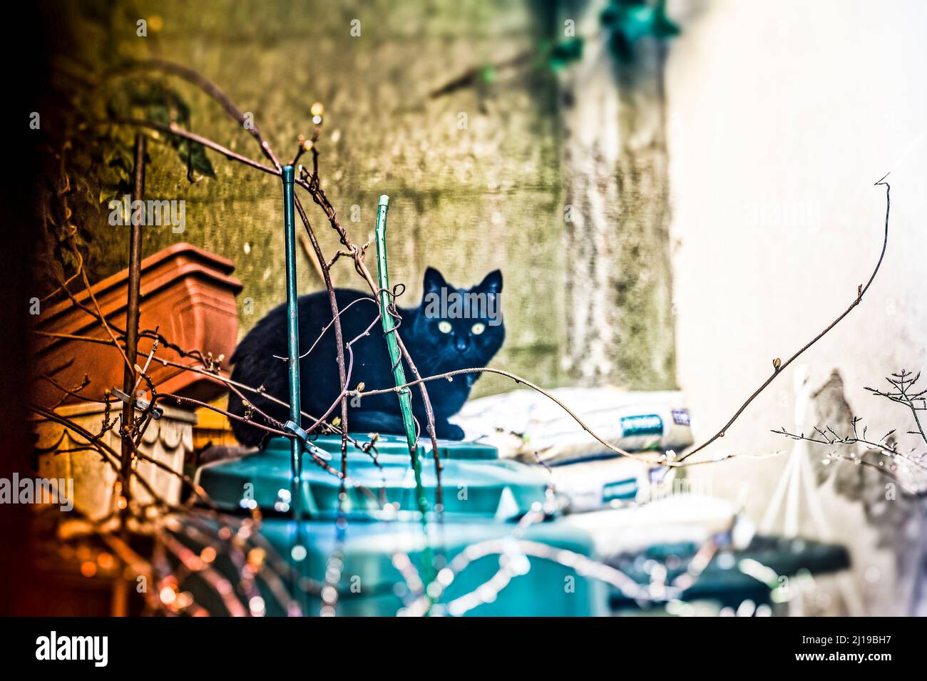
[[[502,272],[491,271],[473,288],[455,288],[433,268],[425,271],[414,333],[431,367],[478,367],[502,347]]]

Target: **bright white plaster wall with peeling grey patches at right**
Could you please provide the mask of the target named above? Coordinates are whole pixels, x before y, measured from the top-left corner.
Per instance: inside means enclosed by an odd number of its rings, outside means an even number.
[[[679,384],[696,439],[717,431],[772,371],[856,296],[892,223],[883,269],[863,303],[799,361],[811,385],[833,369],[845,399],[879,435],[909,414],[870,396],[899,369],[927,369],[927,8],[916,2],[678,2],[667,65]],[[673,14],[676,12],[676,14]],[[791,443],[794,368],[782,372],[718,448],[762,453]],[[810,421],[812,417],[808,415]],[[877,435],[878,436],[878,435]],[[911,445],[915,442],[911,441]],[[696,467],[717,494],[747,490],[766,509],[784,457]],[[749,486],[749,487],[746,487]],[[899,612],[886,530],[858,503],[824,492],[835,537],[853,550],[867,612]],[[807,510],[802,510],[807,524]]]

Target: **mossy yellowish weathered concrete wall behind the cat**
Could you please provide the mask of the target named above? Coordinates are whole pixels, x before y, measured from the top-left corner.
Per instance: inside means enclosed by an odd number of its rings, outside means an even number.
[[[70,58],[97,66],[117,55],[189,65],[253,112],[285,159],[298,134],[311,132],[311,104],[324,102],[324,187],[357,243],[372,236],[378,196],[391,196],[390,274],[408,284],[400,304],[418,301],[427,265],[461,285],[502,268],[508,337],[493,364],[556,383],[564,221],[552,83],[516,79],[426,96],[465,69],[537,44],[540,28],[529,3],[140,2],[137,13],[107,10],[108,28],[75,19]],[[146,38],[135,35],[140,18],[148,20]],[[359,37],[351,36],[354,19],[361,22]],[[196,132],[260,158],[219,107],[193,88],[184,92]],[[217,177],[191,185],[176,156],[152,146],[146,193],[185,198],[187,227],[179,235],[146,229],[145,255],[184,240],[233,259],[245,284],[243,334],[285,296],[279,182],[210,153]],[[336,240],[313,208],[313,226],[334,253]],[[124,262],[122,239],[113,239],[112,248],[114,262]],[[300,290],[321,288],[300,258]],[[347,260],[334,279],[360,282]],[[509,386],[489,376],[477,384],[484,394]]]

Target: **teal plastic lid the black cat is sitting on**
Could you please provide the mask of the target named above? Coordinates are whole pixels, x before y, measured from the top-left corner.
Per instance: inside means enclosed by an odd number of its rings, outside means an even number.
[[[361,435],[360,441],[367,437]],[[422,483],[432,508],[438,480],[430,444],[420,442]],[[312,444],[331,455],[328,464],[341,468],[341,438],[321,436]],[[497,458],[495,448],[476,443],[438,440],[441,490],[445,517],[509,520],[543,502],[547,478],[537,467]],[[491,456],[490,456],[491,455]],[[242,459],[218,461],[199,469],[197,481],[217,506],[226,511],[260,508],[264,513],[291,512],[290,447],[286,438]],[[412,460],[405,439],[384,435],[375,451],[365,453],[349,445],[348,498],[343,510],[352,519],[403,519],[417,516]],[[300,508],[310,518],[335,517],[341,480],[309,454],[303,455]],[[384,505],[387,505],[384,510]]]

